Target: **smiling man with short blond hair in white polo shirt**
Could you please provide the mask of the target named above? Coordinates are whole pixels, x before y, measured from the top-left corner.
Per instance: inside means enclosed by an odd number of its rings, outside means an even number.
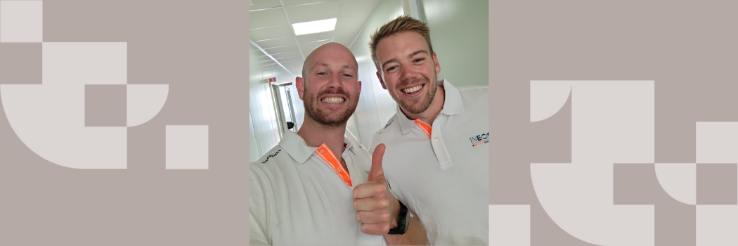
[[[401,16],[370,41],[376,75],[397,102],[374,134],[384,175],[432,245],[489,244],[489,86],[438,80],[441,64],[426,24]],[[472,71],[473,72],[473,71]]]

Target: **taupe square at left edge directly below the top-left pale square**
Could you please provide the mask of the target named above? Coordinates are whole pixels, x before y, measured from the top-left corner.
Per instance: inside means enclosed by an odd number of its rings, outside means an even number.
[[[41,84],[41,43],[0,43],[0,83]]]

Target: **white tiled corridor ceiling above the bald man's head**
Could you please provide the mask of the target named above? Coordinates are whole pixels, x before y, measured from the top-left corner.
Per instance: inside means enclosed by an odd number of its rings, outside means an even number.
[[[320,44],[339,42],[349,47],[382,0],[251,0],[249,39],[299,76],[305,58]],[[336,29],[325,33],[294,35],[292,24],[337,18]],[[260,54],[264,69],[279,68]]]

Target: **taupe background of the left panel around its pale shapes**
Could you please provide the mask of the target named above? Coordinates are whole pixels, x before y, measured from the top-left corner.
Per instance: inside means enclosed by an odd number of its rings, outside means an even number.
[[[49,163],[0,115],[0,245],[246,245],[247,25],[247,1],[44,1],[45,42],[125,42],[168,99],[126,169]],[[166,125],[208,126],[207,170],[165,169]]]

